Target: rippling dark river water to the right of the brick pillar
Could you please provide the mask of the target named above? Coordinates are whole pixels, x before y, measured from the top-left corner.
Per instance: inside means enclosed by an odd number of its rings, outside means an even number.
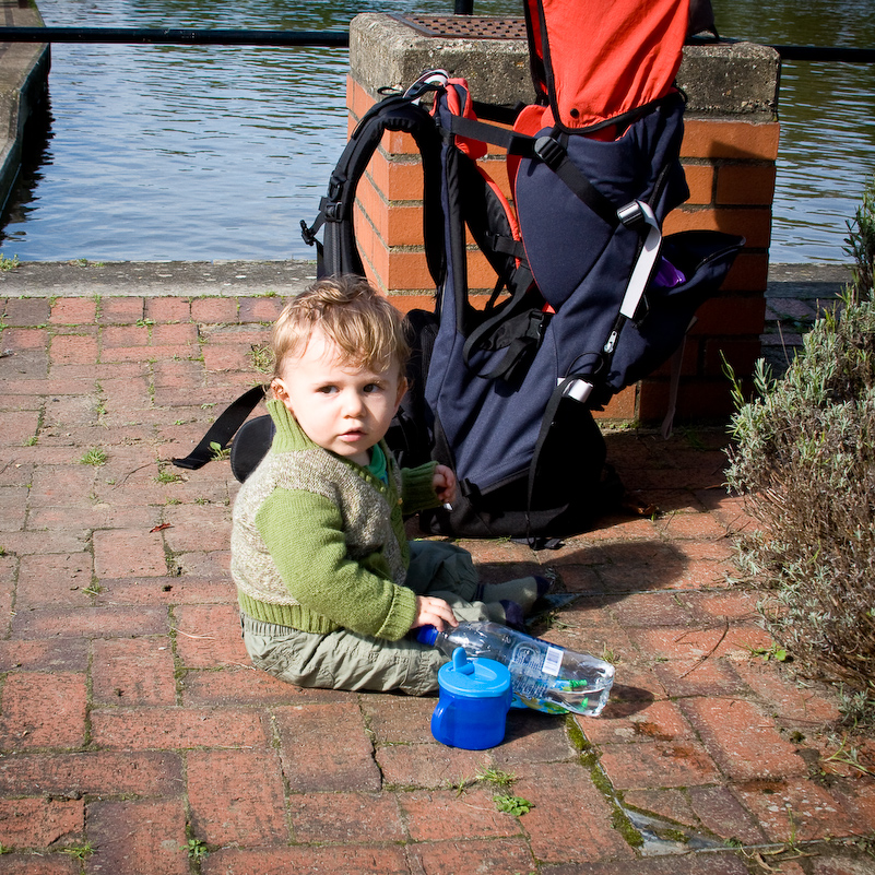
[[[875,46],[872,0],[712,0],[723,36]],[[771,260],[846,261],[847,223],[875,173],[875,66],[787,62]]]

